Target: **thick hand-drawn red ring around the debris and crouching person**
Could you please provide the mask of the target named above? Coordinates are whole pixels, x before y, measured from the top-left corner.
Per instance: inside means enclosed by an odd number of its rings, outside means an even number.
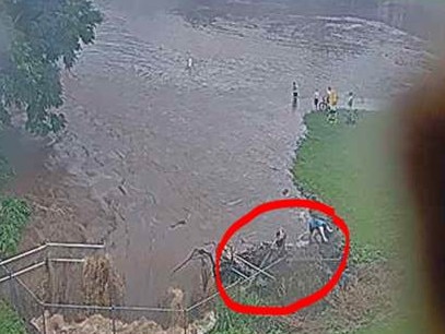
[[[346,242],[344,242],[344,249],[343,249],[343,255],[341,257],[341,262],[335,272],[333,276],[319,290],[315,291],[314,294],[303,297],[298,300],[296,300],[293,303],[290,303],[284,307],[271,307],[271,306],[250,306],[250,305],[243,305],[239,302],[236,302],[233,300],[229,294],[225,291],[225,288],[222,284],[221,279],[221,257],[223,253],[223,250],[225,246],[227,244],[229,240],[233,237],[233,235],[239,230],[242,227],[246,226],[247,224],[251,223],[257,216],[269,212],[269,211],[274,211],[274,210],[281,210],[281,208],[289,208],[289,207],[303,207],[303,208],[311,208],[315,211],[319,211],[324,213],[325,215],[329,216],[332,218],[333,224],[336,224],[340,230],[343,232]],[[222,237],[220,243],[218,244],[216,248],[216,275],[215,275],[215,281],[216,281],[216,288],[218,291],[221,295],[221,298],[223,299],[224,303],[230,308],[231,310],[238,312],[238,313],[245,313],[245,314],[254,314],[254,315],[286,315],[291,313],[295,313],[296,311],[306,308],[320,299],[325,298],[337,285],[337,283],[340,281],[341,274],[344,272],[348,263],[348,257],[349,257],[349,250],[350,250],[350,235],[349,235],[349,228],[348,225],[341,219],[339,216],[336,215],[336,212],[332,207],[320,203],[316,201],[311,201],[311,200],[297,200],[297,199],[292,199],[292,200],[278,200],[278,201],[272,201],[268,203],[264,203],[254,210],[251,210],[249,213],[241,217],[238,220],[236,220],[224,234]]]

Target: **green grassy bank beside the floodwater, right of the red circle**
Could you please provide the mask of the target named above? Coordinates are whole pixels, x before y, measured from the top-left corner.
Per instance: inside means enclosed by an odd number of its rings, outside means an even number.
[[[400,264],[403,253],[400,236],[407,235],[402,227],[408,224],[410,213],[402,204],[401,174],[394,154],[397,152],[396,136],[391,132],[397,129],[395,119],[388,112],[361,111],[356,124],[351,126],[344,122],[344,111],[341,111],[337,124],[329,124],[323,114],[307,115],[305,123],[307,135],[298,147],[292,169],[295,182],[307,193],[333,206],[347,222],[354,263],[375,269],[387,259],[389,269],[395,263]],[[377,282],[372,283],[378,289],[386,288],[378,281],[384,279],[387,272],[382,270],[383,275],[376,275]],[[393,294],[389,289],[388,286],[388,296]],[[401,299],[405,300],[405,296]],[[400,315],[394,315],[403,313],[400,312],[402,308],[397,311],[394,306],[385,309],[382,307],[385,300],[373,303],[372,298],[368,303],[368,314],[360,319],[362,325],[353,331],[339,329],[332,332],[417,333],[415,327],[400,320]],[[333,313],[337,320],[333,317],[331,321],[336,327],[341,314]]]

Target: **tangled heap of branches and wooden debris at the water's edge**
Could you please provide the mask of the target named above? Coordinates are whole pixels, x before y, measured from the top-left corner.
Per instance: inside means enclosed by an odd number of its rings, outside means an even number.
[[[337,257],[340,244],[338,242],[311,243],[309,240],[304,240],[308,235],[308,232],[305,232],[297,237],[295,242],[289,243],[286,242],[286,231],[279,228],[271,241],[248,242],[248,247],[246,247],[246,242],[241,242],[238,248],[233,243],[226,244],[220,259],[220,275],[223,284],[226,286],[239,279],[249,279],[247,288],[261,287],[265,284],[277,287],[280,285],[280,279],[283,278],[281,274],[285,273],[288,275],[290,273],[290,266],[301,267],[302,270],[312,266],[323,277],[326,276],[327,267],[338,265],[339,259],[332,257]],[[329,248],[329,250],[326,248]],[[211,267],[213,277],[215,276],[214,251],[203,248],[194,249],[188,258],[173,270],[173,273],[197,260],[200,261],[201,271],[206,266]],[[277,263],[281,264],[278,267],[266,270]],[[208,276],[201,275],[201,281],[202,286],[207,287],[209,285]]]

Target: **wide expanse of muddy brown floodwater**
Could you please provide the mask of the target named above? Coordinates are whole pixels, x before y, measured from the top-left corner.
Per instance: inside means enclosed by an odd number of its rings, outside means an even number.
[[[412,5],[315,2],[97,0],[97,41],[63,79],[68,133],[15,184],[34,198],[54,188],[49,199],[75,210],[50,226],[36,217],[23,247],[104,239],[129,305],[196,288],[192,271],[171,275],[194,247],[283,189],[295,193],[288,169],[315,88],[375,106],[432,57],[431,36],[409,24]],[[270,217],[258,238],[304,228],[290,212]]]

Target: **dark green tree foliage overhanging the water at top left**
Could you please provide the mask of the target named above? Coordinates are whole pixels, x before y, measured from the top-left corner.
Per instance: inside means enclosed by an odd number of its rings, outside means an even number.
[[[101,12],[90,0],[0,0],[0,122],[25,111],[37,135],[58,132],[65,117],[60,72],[95,39]],[[3,48],[4,46],[4,48]]]

